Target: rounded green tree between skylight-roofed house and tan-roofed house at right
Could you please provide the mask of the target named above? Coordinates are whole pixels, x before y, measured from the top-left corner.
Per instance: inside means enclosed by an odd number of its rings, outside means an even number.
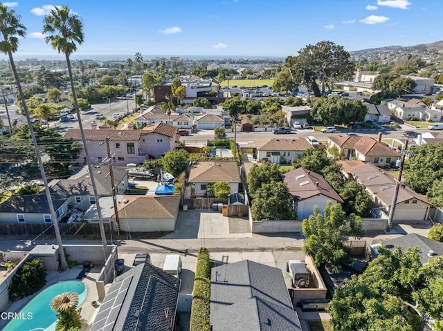
[[[346,182],[338,193],[345,203],[343,210],[346,214],[356,214],[367,217],[372,209],[372,199],[365,187],[355,180]]]

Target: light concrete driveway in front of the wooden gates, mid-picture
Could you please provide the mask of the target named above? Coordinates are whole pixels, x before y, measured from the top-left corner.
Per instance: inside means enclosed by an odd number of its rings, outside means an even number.
[[[221,215],[219,211],[190,209],[179,211],[175,231],[164,239],[251,238],[247,218]]]

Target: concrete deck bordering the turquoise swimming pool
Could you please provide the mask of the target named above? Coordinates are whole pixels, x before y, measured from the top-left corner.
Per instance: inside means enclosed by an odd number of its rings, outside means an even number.
[[[65,272],[48,272],[48,275],[46,276],[46,285],[44,289],[48,286],[54,285],[55,283],[59,283],[60,281],[75,281],[78,274],[82,271],[81,267],[73,267],[71,269],[66,270]],[[98,274],[100,274],[101,267],[93,267],[90,272],[88,272],[84,278],[82,279],[82,282],[87,286],[88,294],[82,305],[80,305],[80,308],[82,308],[82,311],[80,313],[81,319],[82,319],[82,331],[87,331],[91,328],[91,321],[93,321],[93,317],[98,311],[98,307],[94,308],[93,305],[91,305],[92,301],[98,300],[98,294],[96,290],[96,278],[98,277]],[[80,281],[80,280],[78,280]],[[43,290],[43,289],[42,289]],[[41,291],[33,294],[32,296],[27,296],[26,298],[19,299],[17,301],[14,301],[10,303],[6,308],[4,309],[5,312],[19,312],[24,306],[29,303],[32,299],[34,299],[37,294],[39,294]],[[3,327],[6,325],[8,321],[0,320],[0,330],[3,329]]]

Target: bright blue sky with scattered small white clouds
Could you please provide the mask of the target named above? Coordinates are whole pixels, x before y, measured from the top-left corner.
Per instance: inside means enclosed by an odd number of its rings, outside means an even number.
[[[87,55],[287,57],[330,40],[346,50],[443,39],[442,0],[36,0],[4,2],[28,35],[18,57],[51,57],[45,12],[68,5],[84,23]],[[1,57],[6,58],[6,57]],[[60,59],[63,57],[60,56]]]

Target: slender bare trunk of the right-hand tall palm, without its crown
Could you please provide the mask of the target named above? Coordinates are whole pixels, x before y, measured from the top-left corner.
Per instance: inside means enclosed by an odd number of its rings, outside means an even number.
[[[105,255],[105,261],[106,261],[107,243],[106,243],[105,227],[103,226],[103,220],[102,220],[102,211],[100,210],[100,201],[99,201],[100,197],[98,196],[97,187],[96,187],[96,180],[93,176],[94,173],[93,173],[93,170],[91,167],[91,161],[89,159],[88,147],[87,147],[86,139],[84,138],[83,124],[82,124],[82,119],[80,117],[80,109],[78,108],[78,102],[77,102],[77,93],[75,92],[75,88],[74,88],[74,79],[73,79],[73,75],[72,75],[71,60],[69,59],[69,55],[67,53],[65,55],[66,55],[66,64],[68,65],[69,82],[71,83],[71,91],[72,91],[72,98],[74,100],[75,113],[77,114],[80,135],[82,136],[84,155],[86,156],[86,163],[88,165],[89,176],[91,176],[91,185],[92,185],[92,189],[94,192],[94,198],[96,199],[98,225],[100,227],[100,236],[102,238],[102,245],[103,245],[103,250],[104,250],[103,254]]]

